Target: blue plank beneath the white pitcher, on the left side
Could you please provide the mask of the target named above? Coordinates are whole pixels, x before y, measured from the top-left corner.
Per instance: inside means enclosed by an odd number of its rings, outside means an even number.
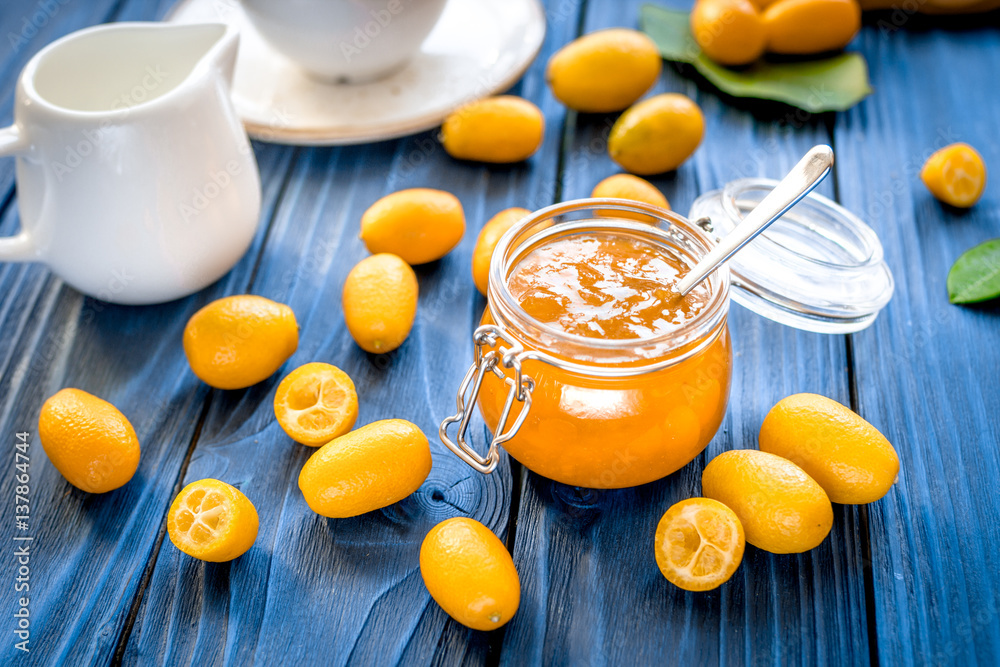
[[[141,4],[141,3],[135,3]],[[65,33],[83,21],[113,16],[106,3],[66,7],[50,30]],[[133,12],[159,11],[145,4]],[[33,45],[40,46],[40,45]],[[5,83],[7,79],[4,79]],[[293,151],[259,147],[265,177],[264,219],[269,219]],[[8,163],[3,164],[9,168]],[[18,224],[16,199],[2,228]],[[0,428],[31,438],[32,664],[106,663],[111,660],[143,574],[160,537],[189,450],[206,389],[190,375],[180,345],[187,318],[206,300],[240,290],[249,280],[266,235],[262,225],[234,271],[202,293],[163,306],[127,308],[84,298],[37,265],[0,266]],[[124,341],[124,344],[123,344]],[[45,457],[35,436],[46,397],[76,386],[117,405],[139,435],[142,459],[135,478],[95,496],[69,486]],[[14,478],[0,490],[14,495]],[[11,528],[13,531],[13,527]],[[0,575],[13,580],[16,563],[4,559]],[[23,657],[5,642],[0,662]]]

